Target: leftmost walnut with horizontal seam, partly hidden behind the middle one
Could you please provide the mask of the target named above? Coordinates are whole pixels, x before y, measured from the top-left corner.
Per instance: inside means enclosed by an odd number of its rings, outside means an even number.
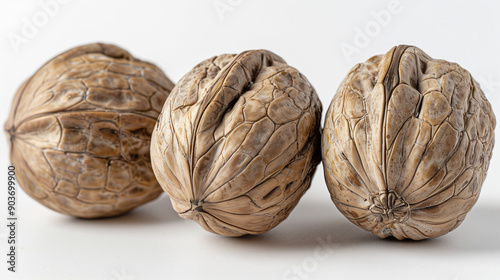
[[[19,184],[43,205],[83,218],[158,197],[151,133],[173,86],[113,45],[56,56],[21,86],[5,124]]]

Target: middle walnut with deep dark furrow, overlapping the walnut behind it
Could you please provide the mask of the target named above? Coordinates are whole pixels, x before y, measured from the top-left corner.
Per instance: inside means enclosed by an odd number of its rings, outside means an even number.
[[[321,103],[272,52],[220,55],[172,90],[153,132],[153,170],[183,218],[240,236],[286,219],[320,162]]]

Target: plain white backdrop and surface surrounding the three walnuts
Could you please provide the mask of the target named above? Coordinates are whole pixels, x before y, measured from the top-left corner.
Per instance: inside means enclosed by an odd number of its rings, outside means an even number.
[[[44,10],[46,2],[0,1],[2,123],[24,79],[60,52],[97,41],[154,62],[174,82],[208,57],[269,49],[308,77],[325,111],[355,63],[411,44],[469,70],[500,116],[498,1],[401,0],[391,10],[389,1],[66,0]],[[390,19],[377,22],[384,13]],[[346,46],[355,53],[343,52]],[[8,150],[0,139],[6,186]],[[2,187],[0,278],[500,279],[499,146],[464,223],[421,242],[380,240],[352,225],[331,202],[319,166],[286,221],[242,238],[179,218],[166,195],[127,215],[89,221],[48,210],[19,191],[18,272],[11,273]]]

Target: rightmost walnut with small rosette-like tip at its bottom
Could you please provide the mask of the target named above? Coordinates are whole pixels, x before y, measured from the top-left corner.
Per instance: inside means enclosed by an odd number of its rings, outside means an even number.
[[[325,179],[351,222],[397,239],[441,236],[479,196],[495,116],[456,63],[412,46],[356,65],[326,114]]]

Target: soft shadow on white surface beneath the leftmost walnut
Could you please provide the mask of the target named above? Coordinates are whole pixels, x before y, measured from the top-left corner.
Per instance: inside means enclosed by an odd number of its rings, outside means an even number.
[[[64,216],[64,218],[67,223],[105,226],[157,224],[180,220],[180,217],[172,208],[170,198],[166,194],[162,194],[157,199],[119,216],[98,219],[81,219],[68,216]]]

